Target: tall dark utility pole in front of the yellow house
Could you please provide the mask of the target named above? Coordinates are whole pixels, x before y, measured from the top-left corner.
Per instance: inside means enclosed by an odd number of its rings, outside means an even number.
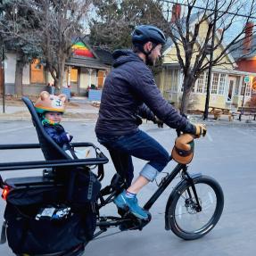
[[[212,60],[213,60],[213,47],[214,47],[216,21],[217,21],[217,12],[218,12],[218,0],[215,0],[214,20],[213,20],[212,37],[211,37],[211,55],[210,55],[210,62],[209,62],[209,69],[208,69],[207,92],[206,92],[205,106],[204,106],[204,112],[203,112],[203,120],[208,119],[208,110],[209,110],[210,92],[211,92],[211,71],[212,71]]]

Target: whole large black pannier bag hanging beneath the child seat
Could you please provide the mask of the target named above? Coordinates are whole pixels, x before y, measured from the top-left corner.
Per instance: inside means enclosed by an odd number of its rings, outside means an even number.
[[[4,219],[12,251],[17,254],[44,254],[87,244],[95,232],[95,201],[100,188],[100,182],[91,171],[77,170],[70,202],[66,200],[67,186],[11,190],[6,200]],[[65,214],[58,219],[54,218],[54,214],[40,215],[49,209]]]

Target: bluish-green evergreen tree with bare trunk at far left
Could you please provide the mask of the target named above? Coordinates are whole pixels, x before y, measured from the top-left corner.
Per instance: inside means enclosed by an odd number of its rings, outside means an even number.
[[[41,54],[37,38],[33,37],[37,24],[21,0],[1,1],[0,12],[1,40],[8,50],[16,53],[14,94],[21,96],[23,67]]]

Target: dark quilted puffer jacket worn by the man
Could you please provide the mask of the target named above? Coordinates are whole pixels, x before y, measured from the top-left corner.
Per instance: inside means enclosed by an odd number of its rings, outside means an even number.
[[[136,114],[148,120],[156,115],[170,128],[193,132],[194,126],[181,116],[161,95],[152,71],[128,50],[113,54],[114,69],[104,82],[97,136],[121,136],[136,131]]]

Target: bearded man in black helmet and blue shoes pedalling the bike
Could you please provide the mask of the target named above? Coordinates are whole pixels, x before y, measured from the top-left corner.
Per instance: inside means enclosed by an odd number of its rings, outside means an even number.
[[[139,219],[148,219],[147,211],[137,203],[136,194],[165,168],[169,153],[138,128],[139,117],[160,125],[162,120],[170,128],[195,136],[202,135],[206,128],[190,123],[162,97],[147,67],[157,62],[161,46],[166,43],[161,29],[138,26],[132,34],[132,43],[133,51],[117,50],[113,54],[113,70],[104,82],[95,133],[128,186],[115,198],[115,204]],[[133,184],[131,156],[148,161]]]

